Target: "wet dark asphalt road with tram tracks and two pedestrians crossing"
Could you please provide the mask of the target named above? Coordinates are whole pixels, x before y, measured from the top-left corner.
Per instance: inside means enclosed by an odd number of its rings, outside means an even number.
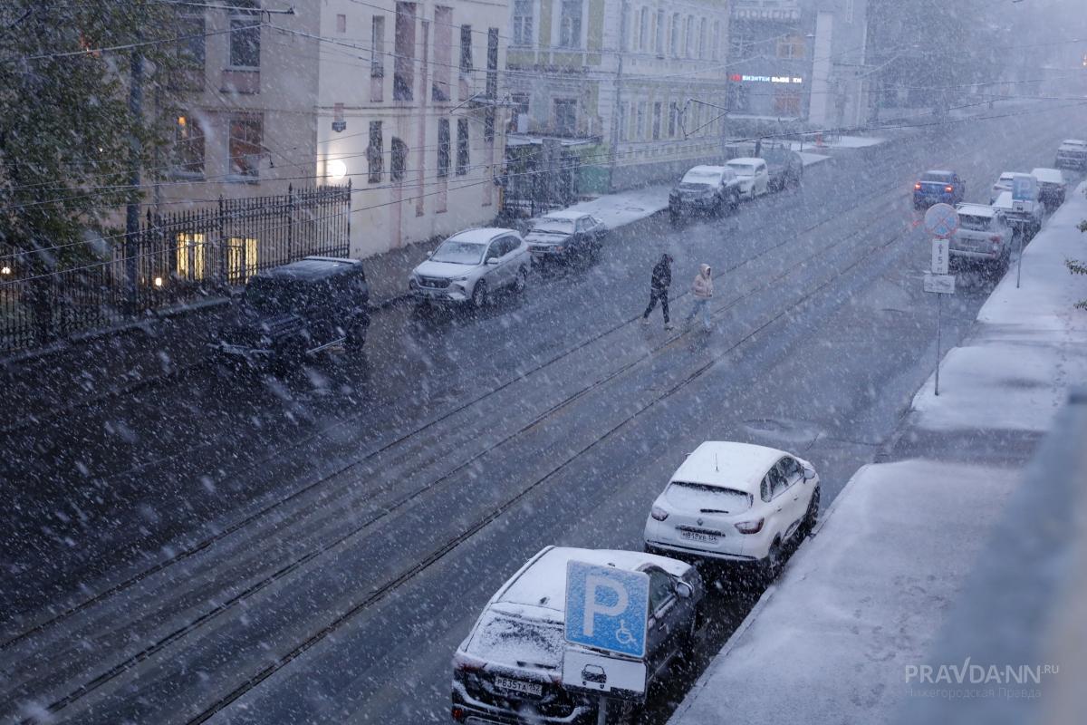
[[[726,220],[625,227],[478,315],[395,308],[365,360],[197,368],[11,436],[0,716],[448,722],[450,655],[495,589],[548,543],[640,548],[701,440],[795,450],[828,503],[936,359],[915,175],[953,167],[987,201],[1083,120],[1004,113],[842,154]],[[680,322],[698,264],[723,273],[710,334],[637,324],[662,251]],[[945,346],[990,289],[960,279]],[[644,722],[757,593],[715,591]]]

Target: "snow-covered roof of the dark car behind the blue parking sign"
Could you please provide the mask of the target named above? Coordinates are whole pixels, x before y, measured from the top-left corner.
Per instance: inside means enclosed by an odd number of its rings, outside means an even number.
[[[546,547],[505,583],[489,607],[529,618],[562,621],[566,611],[566,564],[571,561],[628,572],[654,565],[674,576],[683,576],[690,568],[685,562],[640,551]]]

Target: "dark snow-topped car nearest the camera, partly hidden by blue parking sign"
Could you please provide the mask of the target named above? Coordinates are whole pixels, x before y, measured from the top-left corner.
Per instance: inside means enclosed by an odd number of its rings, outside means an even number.
[[[690,564],[638,551],[546,547],[491,597],[453,655],[459,723],[596,722],[599,698],[562,685],[566,564],[582,561],[649,575],[647,679],[691,648],[702,579]]]

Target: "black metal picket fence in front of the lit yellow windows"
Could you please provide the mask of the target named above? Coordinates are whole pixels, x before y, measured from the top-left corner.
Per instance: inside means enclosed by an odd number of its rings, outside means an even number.
[[[195,211],[149,212],[136,235],[121,235],[67,268],[51,268],[49,250],[0,254],[0,353],[192,301],[310,254],[347,257],[350,210],[350,185],[291,187]]]

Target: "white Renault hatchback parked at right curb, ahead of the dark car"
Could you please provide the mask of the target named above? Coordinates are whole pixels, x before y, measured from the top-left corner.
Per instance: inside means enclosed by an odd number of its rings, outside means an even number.
[[[646,517],[646,551],[747,562],[776,575],[786,547],[815,525],[820,478],[774,448],[705,441],[687,457]]]

